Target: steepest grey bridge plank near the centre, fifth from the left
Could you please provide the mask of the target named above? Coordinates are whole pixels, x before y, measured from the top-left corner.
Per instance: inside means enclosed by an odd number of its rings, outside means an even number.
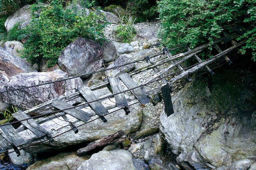
[[[125,94],[123,92],[124,90],[122,88],[119,78],[118,77],[109,77],[109,82],[110,82],[113,94],[119,93],[114,96],[115,100],[116,100],[117,107],[126,108],[126,109],[124,109],[124,111],[125,111],[126,115],[128,115],[128,113],[130,113],[130,110],[128,109],[128,103],[126,101]],[[123,93],[120,93],[120,92],[123,92]]]

